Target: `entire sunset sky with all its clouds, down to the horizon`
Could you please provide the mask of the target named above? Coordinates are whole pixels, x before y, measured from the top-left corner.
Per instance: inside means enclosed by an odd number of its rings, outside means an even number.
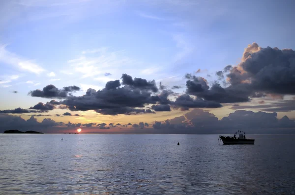
[[[1,0],[0,133],[294,134],[293,0]]]

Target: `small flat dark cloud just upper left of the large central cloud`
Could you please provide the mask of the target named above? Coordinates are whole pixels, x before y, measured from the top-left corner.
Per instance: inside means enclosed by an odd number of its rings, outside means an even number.
[[[63,87],[62,89],[58,89],[54,85],[47,85],[43,88],[43,90],[34,90],[30,91],[29,95],[32,97],[45,97],[45,98],[66,98],[72,96],[72,92],[79,91],[80,87],[77,86],[69,86]]]

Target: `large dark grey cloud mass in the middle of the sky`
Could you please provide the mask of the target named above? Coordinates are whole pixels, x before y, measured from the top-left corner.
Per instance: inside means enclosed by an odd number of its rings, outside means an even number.
[[[129,80],[128,80],[129,79]],[[167,104],[169,93],[164,90],[160,95],[152,96],[150,90],[154,82],[135,78],[123,74],[125,86],[120,87],[119,80],[109,81],[102,90],[88,89],[81,97],[67,97],[60,104],[66,105],[71,111],[95,110],[104,115],[153,113],[150,109],[143,109],[148,104]],[[131,83],[130,83],[131,82]],[[130,83],[131,85],[127,85]],[[152,90],[153,91],[153,90]],[[142,108],[142,109],[140,109]]]

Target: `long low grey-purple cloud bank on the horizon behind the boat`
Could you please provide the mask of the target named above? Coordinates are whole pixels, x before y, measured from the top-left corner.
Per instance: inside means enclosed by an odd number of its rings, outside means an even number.
[[[244,130],[248,134],[288,133],[293,134],[295,121],[287,116],[277,118],[277,113],[252,112],[237,110],[221,120],[207,111],[194,109],[183,116],[164,122],[154,122],[152,125],[156,131],[153,133],[232,133],[237,129]],[[287,129],[286,129],[287,128]]]

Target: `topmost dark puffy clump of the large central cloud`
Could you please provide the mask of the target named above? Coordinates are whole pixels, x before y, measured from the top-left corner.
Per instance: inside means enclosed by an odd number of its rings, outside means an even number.
[[[128,74],[122,74],[122,84],[129,85],[141,90],[151,90],[152,92],[157,92],[158,88],[156,86],[156,82],[154,80],[147,81],[143,78],[132,78],[132,76]]]

